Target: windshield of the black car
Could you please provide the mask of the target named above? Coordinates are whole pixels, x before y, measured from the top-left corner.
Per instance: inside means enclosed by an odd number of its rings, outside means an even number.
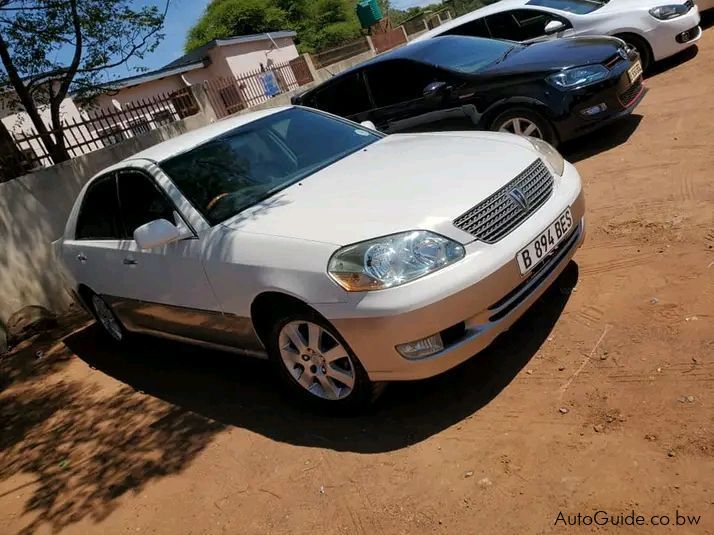
[[[431,42],[432,46],[421,51],[419,60],[465,74],[474,74],[524,48],[511,41],[456,35],[438,37]]]

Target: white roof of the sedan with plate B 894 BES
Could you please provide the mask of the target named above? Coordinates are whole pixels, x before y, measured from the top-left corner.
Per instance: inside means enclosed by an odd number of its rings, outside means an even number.
[[[291,107],[292,106],[280,106],[276,108],[268,108],[265,110],[244,113],[222,121],[217,121],[213,124],[187,132],[186,134],[176,136],[175,138],[159,143],[158,145],[154,145],[153,147],[149,147],[148,149],[138,152],[137,154],[129,156],[123,161],[126,162],[129,160],[145,159],[160,162],[166,160],[167,158],[171,158],[172,156],[176,156],[177,154],[181,154],[182,152],[186,152],[187,150],[190,150],[202,143],[210,141],[211,139],[229,132],[234,128],[238,128],[239,126],[243,126],[244,124],[248,124],[257,119],[287,110]]]

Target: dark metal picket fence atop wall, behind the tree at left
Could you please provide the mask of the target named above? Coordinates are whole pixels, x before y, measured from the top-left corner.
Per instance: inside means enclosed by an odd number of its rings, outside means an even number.
[[[198,103],[189,88],[130,102],[121,109],[89,108],[82,111],[81,119],[70,118],[63,121],[65,147],[70,157],[75,158],[150,132],[198,111]],[[53,138],[56,133],[50,129]],[[11,136],[15,149],[4,151],[3,158],[0,158],[0,181],[3,178],[14,178],[7,175],[19,170],[28,172],[38,167],[53,165],[42,137],[34,128],[27,132],[11,133]],[[14,173],[11,169],[14,169]]]

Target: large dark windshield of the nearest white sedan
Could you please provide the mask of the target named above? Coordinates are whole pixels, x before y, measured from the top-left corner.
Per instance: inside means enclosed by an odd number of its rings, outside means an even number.
[[[160,165],[215,225],[380,138],[357,124],[291,108]]]

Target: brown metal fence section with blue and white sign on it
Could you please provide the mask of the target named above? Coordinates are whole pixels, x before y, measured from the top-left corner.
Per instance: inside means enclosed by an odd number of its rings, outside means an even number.
[[[305,58],[274,64],[264,70],[203,82],[216,115],[225,117],[268,101],[312,81]]]

